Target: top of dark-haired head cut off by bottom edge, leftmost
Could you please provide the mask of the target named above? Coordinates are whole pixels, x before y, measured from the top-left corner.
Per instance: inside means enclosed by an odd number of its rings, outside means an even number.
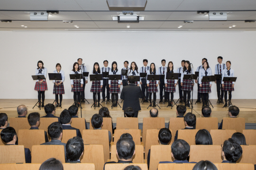
[[[39,170],[64,170],[61,161],[56,158],[50,158],[44,161]]]

